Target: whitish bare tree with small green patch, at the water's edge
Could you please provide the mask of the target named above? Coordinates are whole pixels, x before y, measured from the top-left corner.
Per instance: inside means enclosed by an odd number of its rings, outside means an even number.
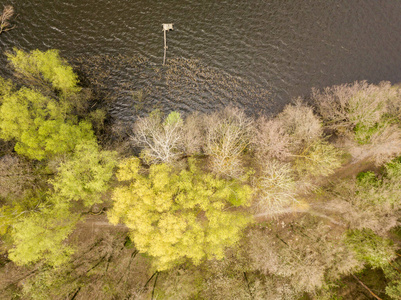
[[[131,136],[136,146],[142,147],[147,163],[171,163],[184,153],[183,120],[178,112],[164,120],[160,111],[154,111],[134,124]]]

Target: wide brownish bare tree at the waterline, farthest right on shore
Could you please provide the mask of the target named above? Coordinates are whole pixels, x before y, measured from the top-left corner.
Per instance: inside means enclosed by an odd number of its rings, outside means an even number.
[[[342,136],[354,160],[373,159],[377,165],[401,153],[401,90],[389,82],[366,81],[313,90],[326,128]]]

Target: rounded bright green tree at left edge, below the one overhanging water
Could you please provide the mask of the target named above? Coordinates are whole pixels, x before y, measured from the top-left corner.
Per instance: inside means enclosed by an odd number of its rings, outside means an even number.
[[[90,123],[65,120],[58,102],[37,91],[23,87],[1,100],[0,137],[15,139],[18,154],[42,160],[94,139]]]

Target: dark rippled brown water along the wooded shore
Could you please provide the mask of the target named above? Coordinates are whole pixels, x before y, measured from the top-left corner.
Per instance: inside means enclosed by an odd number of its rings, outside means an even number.
[[[2,0],[15,30],[1,52],[60,49],[82,81],[130,121],[154,108],[232,104],[280,110],[295,96],[355,80],[401,81],[398,0]],[[0,5],[1,6],[1,5]],[[162,23],[167,65],[162,67]],[[0,75],[8,76],[0,55]]]

